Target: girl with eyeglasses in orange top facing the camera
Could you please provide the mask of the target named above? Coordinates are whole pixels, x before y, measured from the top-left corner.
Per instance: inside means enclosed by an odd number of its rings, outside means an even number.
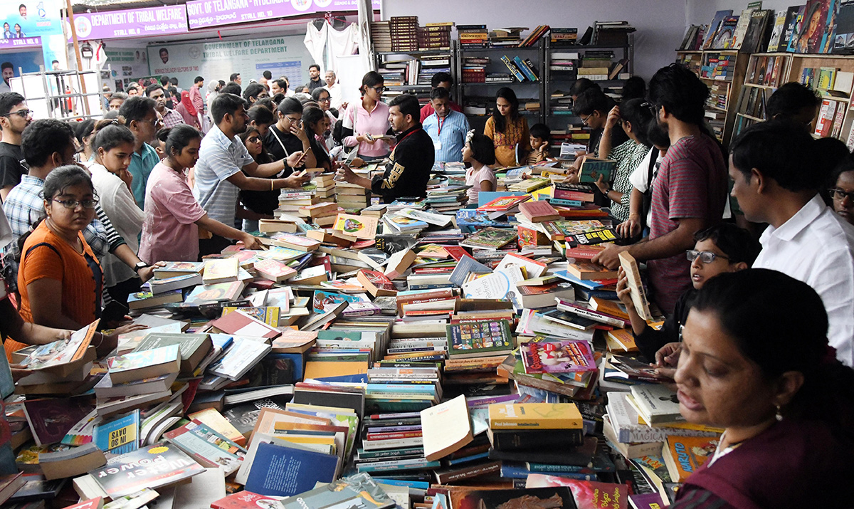
[[[79,330],[101,318],[103,272],[82,231],[95,217],[98,197],[89,173],[58,167],[44,179],[44,213],[18,239],[20,316],[33,324]],[[115,348],[120,334],[143,328],[123,325],[96,335],[99,353]]]

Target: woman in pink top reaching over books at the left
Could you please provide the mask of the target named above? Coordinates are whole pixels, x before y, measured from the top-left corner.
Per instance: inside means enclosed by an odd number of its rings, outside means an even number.
[[[139,258],[196,261],[199,226],[220,237],[262,249],[260,239],[208,217],[187,185],[187,168],[196,166],[202,133],[187,125],[173,127],[166,140],[167,157],[151,171],[145,188],[145,220]]]

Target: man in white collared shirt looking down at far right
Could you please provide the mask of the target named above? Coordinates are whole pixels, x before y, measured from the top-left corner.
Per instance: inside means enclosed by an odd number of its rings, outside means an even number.
[[[750,127],[730,146],[732,195],[747,220],[769,224],[753,266],[816,290],[828,312],[830,345],[842,363],[854,366],[854,226],[818,196],[833,168],[810,164],[813,143],[790,122]]]

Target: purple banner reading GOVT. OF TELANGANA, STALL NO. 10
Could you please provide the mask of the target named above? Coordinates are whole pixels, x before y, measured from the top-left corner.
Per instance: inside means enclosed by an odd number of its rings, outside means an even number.
[[[379,9],[379,3],[380,0],[371,0],[374,9]],[[356,0],[190,0],[187,20],[192,30],[342,10],[359,10],[358,3]]]

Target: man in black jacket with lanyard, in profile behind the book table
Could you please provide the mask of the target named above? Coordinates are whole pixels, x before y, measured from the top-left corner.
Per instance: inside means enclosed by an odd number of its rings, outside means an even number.
[[[397,145],[391,151],[382,176],[369,179],[342,165],[337,178],[358,184],[383,196],[384,203],[401,198],[420,199],[427,194],[427,182],[433,168],[433,141],[421,128],[420,105],[412,95],[395,97],[389,102],[389,123],[397,132]]]

